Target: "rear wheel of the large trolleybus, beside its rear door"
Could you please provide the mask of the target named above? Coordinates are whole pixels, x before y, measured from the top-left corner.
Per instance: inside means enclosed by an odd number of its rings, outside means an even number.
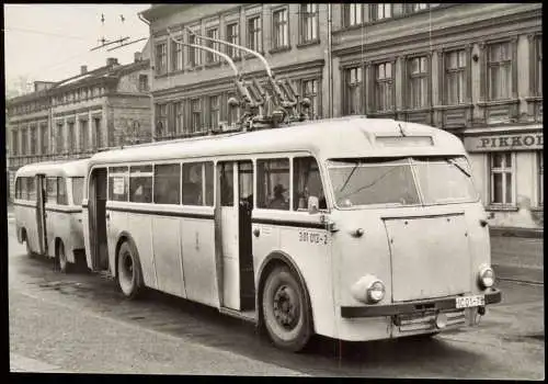
[[[119,247],[117,275],[124,295],[128,298],[137,297],[142,290],[142,274],[137,252],[127,241]]]

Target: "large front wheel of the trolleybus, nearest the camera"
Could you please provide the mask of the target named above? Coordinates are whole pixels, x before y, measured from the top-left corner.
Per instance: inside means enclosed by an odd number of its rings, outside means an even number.
[[[276,267],[266,278],[262,309],[264,326],[277,347],[298,352],[312,335],[305,287],[287,267]]]

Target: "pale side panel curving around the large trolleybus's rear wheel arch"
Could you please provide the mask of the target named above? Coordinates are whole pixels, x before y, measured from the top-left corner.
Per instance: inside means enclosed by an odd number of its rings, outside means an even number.
[[[145,285],[158,290],[152,249],[152,215],[111,211],[111,230],[116,234],[115,239],[124,229],[132,235],[139,253]],[[109,253],[115,257],[116,240],[111,239],[112,237],[109,236]]]

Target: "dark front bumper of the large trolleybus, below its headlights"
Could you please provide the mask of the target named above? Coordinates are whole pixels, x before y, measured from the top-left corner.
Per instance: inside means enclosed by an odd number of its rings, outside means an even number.
[[[490,289],[484,293],[486,305],[500,303],[502,293],[498,289]],[[380,317],[393,316],[403,314],[415,314],[424,312],[436,312],[456,309],[456,297],[422,300],[408,303],[396,303],[388,305],[367,305],[367,306],[342,306],[341,317],[343,318],[359,318],[359,317]]]

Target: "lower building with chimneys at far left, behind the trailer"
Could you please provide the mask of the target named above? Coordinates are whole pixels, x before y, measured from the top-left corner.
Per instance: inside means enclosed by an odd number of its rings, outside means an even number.
[[[147,55],[148,56],[148,55]],[[27,163],[90,157],[98,150],[150,140],[150,61],[142,53],[7,102],[10,195],[16,170]]]

